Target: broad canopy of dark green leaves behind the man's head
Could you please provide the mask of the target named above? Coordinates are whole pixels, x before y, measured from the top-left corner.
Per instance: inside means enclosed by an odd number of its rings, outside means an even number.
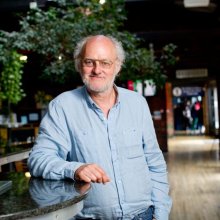
[[[123,44],[126,62],[119,79],[153,79],[156,86],[163,86],[166,66],[174,65],[175,45],[166,45],[155,56],[153,47],[143,48],[142,40],[123,30],[126,20],[124,0],[56,0],[46,9],[30,9],[20,17],[20,31],[5,33],[11,47],[39,54],[42,59],[42,76],[65,83],[78,76],[73,62],[76,43],[85,36],[109,34]],[[76,75],[77,74],[77,75]]]

